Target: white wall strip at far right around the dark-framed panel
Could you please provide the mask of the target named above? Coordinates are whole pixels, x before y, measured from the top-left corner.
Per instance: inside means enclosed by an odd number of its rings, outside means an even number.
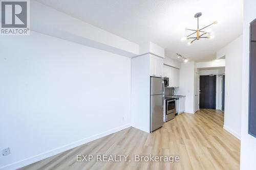
[[[255,169],[256,138],[248,134],[249,23],[256,18],[255,6],[255,0],[244,0],[241,170]]]

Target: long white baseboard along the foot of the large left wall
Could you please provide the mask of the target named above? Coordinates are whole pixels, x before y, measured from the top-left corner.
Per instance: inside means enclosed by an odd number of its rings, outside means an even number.
[[[64,152],[64,151],[68,151],[68,150],[70,150],[72,148],[78,147],[79,145],[88,143],[90,141],[99,139],[101,137],[110,135],[112,133],[118,132],[120,130],[123,130],[125,128],[129,128],[129,127],[131,127],[130,124],[123,125],[123,126],[111,129],[109,131],[105,131],[105,132],[102,132],[102,133],[99,133],[99,134],[87,137],[85,139],[81,139],[81,140],[75,141],[73,143],[63,145],[62,147],[59,147],[59,148],[56,148],[56,149],[53,149],[53,150],[41,153],[39,155],[35,155],[35,156],[32,156],[30,158],[27,158],[27,159],[24,159],[24,160],[21,160],[21,161],[18,161],[18,162],[14,162],[12,164],[8,164],[8,165],[5,165],[5,166],[2,166],[2,167],[0,167],[0,169],[7,170],[7,169],[17,169],[17,168],[20,168],[20,167],[24,167],[24,166],[27,166],[27,165],[29,165],[31,163],[40,161],[42,159],[51,157],[53,155],[59,154],[59,153]]]

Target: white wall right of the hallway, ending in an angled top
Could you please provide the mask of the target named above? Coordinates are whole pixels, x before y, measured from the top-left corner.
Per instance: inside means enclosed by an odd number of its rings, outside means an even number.
[[[223,128],[239,139],[241,135],[242,45],[242,36],[239,36],[220,49],[226,58]]]

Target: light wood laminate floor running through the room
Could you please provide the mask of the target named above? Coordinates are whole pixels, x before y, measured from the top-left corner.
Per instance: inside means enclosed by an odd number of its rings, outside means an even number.
[[[240,141],[225,131],[221,111],[183,113],[151,134],[127,128],[22,169],[239,169]],[[179,156],[180,162],[77,162],[77,154]]]

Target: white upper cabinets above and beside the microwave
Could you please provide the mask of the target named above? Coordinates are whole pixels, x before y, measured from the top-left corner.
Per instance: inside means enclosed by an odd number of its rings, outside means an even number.
[[[164,72],[163,76],[169,78],[169,87],[179,87],[179,81],[180,81],[179,69],[164,65],[163,72]]]

